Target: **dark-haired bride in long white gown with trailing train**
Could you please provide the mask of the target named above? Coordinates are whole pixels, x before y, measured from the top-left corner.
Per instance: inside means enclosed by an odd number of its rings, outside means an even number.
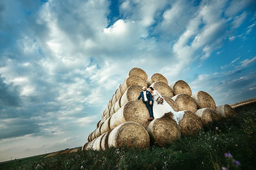
[[[148,88],[148,91],[151,93],[153,101],[156,101],[156,99],[163,98],[157,90],[154,90],[152,87]],[[163,117],[166,113],[171,113],[171,118],[179,124],[179,121],[182,119],[184,111],[179,111],[176,112],[172,109],[172,107],[164,100],[163,105],[157,104],[157,102],[154,102],[153,105],[153,115],[154,118],[161,118]]]

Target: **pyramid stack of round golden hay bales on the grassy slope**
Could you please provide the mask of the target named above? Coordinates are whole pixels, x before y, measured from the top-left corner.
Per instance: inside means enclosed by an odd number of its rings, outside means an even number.
[[[185,111],[179,125],[172,119],[172,113],[148,121],[150,117],[142,100],[135,100],[142,87],[157,90],[174,111]],[[168,85],[167,79],[159,74],[148,78],[139,68],[133,68],[125,80],[115,90],[96,129],[88,135],[88,142],[82,150],[105,150],[110,146],[148,147],[149,143],[164,146],[179,139],[182,135],[197,135],[198,130],[220,118],[235,116],[228,105],[216,107],[213,98],[206,92],[192,94],[189,85],[178,80]]]

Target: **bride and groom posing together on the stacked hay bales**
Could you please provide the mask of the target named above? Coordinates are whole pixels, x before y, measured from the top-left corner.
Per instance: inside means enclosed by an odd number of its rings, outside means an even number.
[[[176,112],[172,107],[164,100],[164,98],[159,94],[157,90],[154,90],[152,87],[149,87],[148,90],[146,86],[143,86],[143,91],[139,95],[139,100],[142,97],[143,103],[145,103],[150,118],[148,120],[154,120],[157,118],[163,117],[166,113],[170,113],[170,117],[179,124],[179,121],[182,119],[184,111]],[[154,103],[154,101],[156,101]]]

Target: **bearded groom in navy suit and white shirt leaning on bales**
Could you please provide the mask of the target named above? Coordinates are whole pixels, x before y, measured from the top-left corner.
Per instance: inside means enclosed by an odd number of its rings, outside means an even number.
[[[143,101],[143,103],[146,104],[146,107],[147,107],[148,112],[150,114],[150,118],[148,120],[154,120],[153,111],[152,111],[153,110],[152,109],[152,106],[153,106],[152,95],[146,89],[147,89],[147,87],[143,86],[143,88],[142,88],[143,91],[141,92],[138,99],[136,99],[136,100],[139,100],[142,97],[142,101]]]

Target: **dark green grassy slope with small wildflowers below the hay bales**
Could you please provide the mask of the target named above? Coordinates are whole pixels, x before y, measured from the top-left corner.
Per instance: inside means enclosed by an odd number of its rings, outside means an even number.
[[[162,148],[79,151],[16,162],[10,169],[255,169],[255,110],[256,103],[238,107],[238,116],[209,124],[198,136],[182,136]]]

